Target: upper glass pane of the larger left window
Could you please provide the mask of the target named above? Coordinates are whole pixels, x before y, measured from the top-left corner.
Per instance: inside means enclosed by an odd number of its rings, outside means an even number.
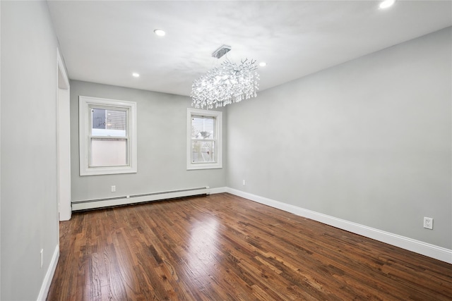
[[[126,110],[91,108],[93,136],[126,137]]]

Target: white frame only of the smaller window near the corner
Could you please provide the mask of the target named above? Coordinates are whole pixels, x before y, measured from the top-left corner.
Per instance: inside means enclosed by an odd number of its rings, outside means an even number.
[[[216,161],[215,162],[192,162],[191,161],[191,118],[193,116],[206,116],[215,118],[215,150]],[[210,169],[210,168],[222,168],[222,112],[220,111],[207,111],[200,109],[186,110],[186,169]]]

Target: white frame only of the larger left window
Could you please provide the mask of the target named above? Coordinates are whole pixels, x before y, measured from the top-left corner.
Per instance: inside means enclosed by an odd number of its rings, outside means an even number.
[[[97,97],[78,97],[78,123],[79,123],[79,147],[80,147],[80,176],[109,175],[117,173],[136,173],[136,102],[124,100],[105,99]],[[128,165],[125,166],[90,166],[90,123],[91,106],[99,106],[105,109],[120,109],[127,111],[126,139],[129,140],[126,149]]]

